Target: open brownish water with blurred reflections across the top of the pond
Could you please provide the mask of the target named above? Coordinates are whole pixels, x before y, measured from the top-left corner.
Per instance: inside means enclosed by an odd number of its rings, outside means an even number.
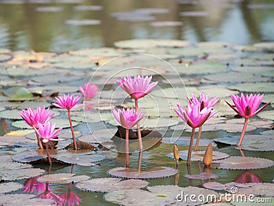
[[[132,38],[253,44],[274,40],[273,16],[271,0],[1,0],[0,46],[64,52]]]

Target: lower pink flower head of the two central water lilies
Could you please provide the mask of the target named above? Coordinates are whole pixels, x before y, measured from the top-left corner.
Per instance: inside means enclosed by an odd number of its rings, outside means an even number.
[[[113,109],[112,112],[116,120],[125,129],[132,129],[145,116],[145,113],[141,114],[141,110],[134,112],[134,108],[127,108],[127,110],[123,108],[123,110],[118,109],[118,111]]]

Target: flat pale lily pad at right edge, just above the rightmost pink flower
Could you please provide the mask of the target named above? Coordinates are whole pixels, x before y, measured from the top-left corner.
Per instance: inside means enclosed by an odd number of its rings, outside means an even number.
[[[227,86],[229,90],[238,90],[241,92],[273,92],[274,83],[236,83],[232,86]]]

